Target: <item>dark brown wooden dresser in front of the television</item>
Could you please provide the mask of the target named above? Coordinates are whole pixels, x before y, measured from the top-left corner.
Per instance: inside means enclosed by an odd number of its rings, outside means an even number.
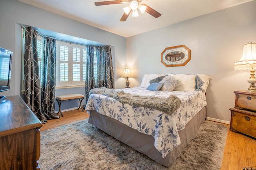
[[[40,127],[20,96],[0,101],[0,170],[40,169]]]

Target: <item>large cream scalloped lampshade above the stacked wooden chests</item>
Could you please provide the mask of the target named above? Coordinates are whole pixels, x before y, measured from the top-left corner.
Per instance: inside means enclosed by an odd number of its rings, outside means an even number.
[[[235,62],[236,70],[250,70],[256,67],[256,43],[248,42],[239,61]]]

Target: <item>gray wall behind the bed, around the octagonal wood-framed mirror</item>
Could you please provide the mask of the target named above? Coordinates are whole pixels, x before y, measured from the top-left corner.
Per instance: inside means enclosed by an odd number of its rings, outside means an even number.
[[[211,77],[207,96],[207,117],[228,123],[234,107],[235,90],[247,90],[249,71],[234,70],[243,45],[256,42],[256,1],[186,20],[127,38],[127,65],[138,86],[148,73],[204,73]],[[183,67],[165,67],[160,54],[166,47],[186,45],[191,60]]]

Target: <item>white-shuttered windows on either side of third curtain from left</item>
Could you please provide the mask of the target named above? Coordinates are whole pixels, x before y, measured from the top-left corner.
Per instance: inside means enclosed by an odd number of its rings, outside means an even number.
[[[86,45],[56,41],[56,87],[84,86],[86,56]],[[96,56],[95,50],[94,56]],[[94,57],[95,73],[96,57]]]

